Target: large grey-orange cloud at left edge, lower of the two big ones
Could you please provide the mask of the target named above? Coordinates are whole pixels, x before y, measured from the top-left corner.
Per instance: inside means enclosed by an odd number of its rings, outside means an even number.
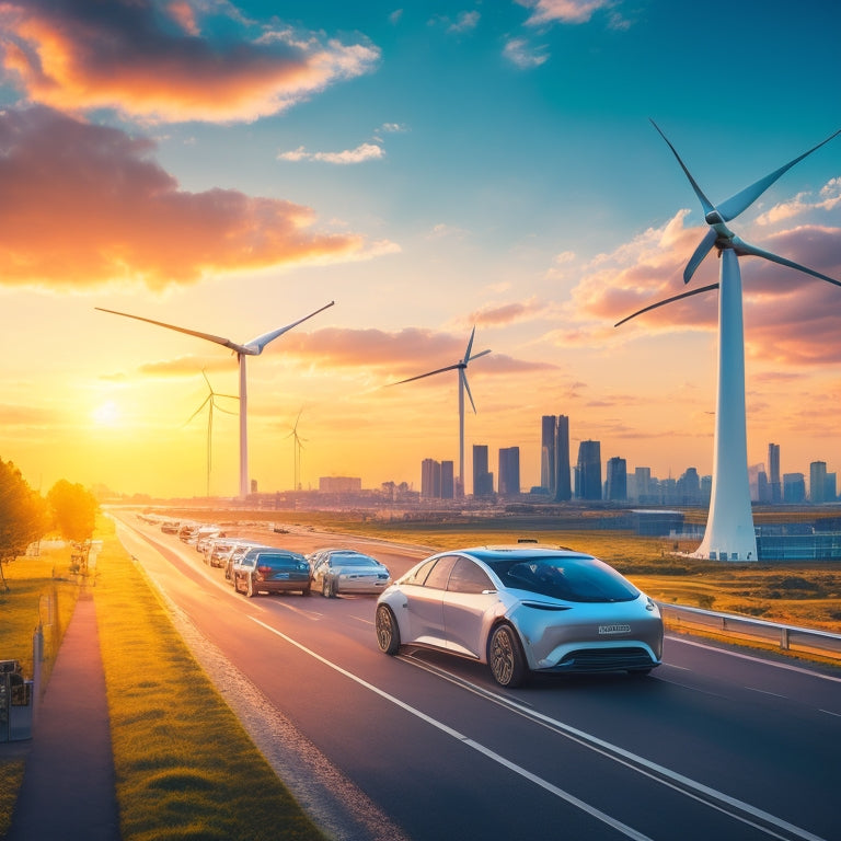
[[[49,108],[0,112],[0,284],[160,289],[396,247],[312,231],[313,211],[290,201],[188,193],[153,151],[148,138]]]

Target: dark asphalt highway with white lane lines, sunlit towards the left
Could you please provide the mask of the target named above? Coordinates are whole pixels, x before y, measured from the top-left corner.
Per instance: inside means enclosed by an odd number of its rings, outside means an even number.
[[[377,647],[375,599],[235,595],[134,515],[117,534],[302,805],[336,839],[841,839],[841,677],[667,635],[647,678],[538,676]],[[252,535],[250,535],[252,537]],[[335,534],[394,577],[425,556]]]

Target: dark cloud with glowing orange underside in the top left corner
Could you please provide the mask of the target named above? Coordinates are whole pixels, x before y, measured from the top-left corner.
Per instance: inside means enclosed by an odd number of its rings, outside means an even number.
[[[254,24],[230,3],[21,0],[0,60],[31,102],[181,123],[252,122],[369,72],[367,43]]]

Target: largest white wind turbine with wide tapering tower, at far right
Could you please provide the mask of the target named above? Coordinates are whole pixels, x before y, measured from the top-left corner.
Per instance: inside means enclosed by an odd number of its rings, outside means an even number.
[[[748,447],[745,410],[745,326],[742,319],[741,273],[739,257],[754,256],[788,266],[829,284],[841,283],[811,268],[802,266],[785,257],[750,245],[737,237],[727,222],[748,209],[781,175],[794,164],[828,143],[841,130],[830,135],[817,146],[790,161],[779,170],[746,187],[730,198],[714,205],[699,187],[675,147],[652,120],[652,124],[671,149],[689,183],[692,185],[704,210],[708,230],[695,249],[683,269],[683,283],[688,284],[713,250],[718,251],[721,266],[718,283],[690,292],[667,298],[664,301],[638,310],[620,321],[615,326],[643,312],[666,303],[718,288],[718,394],[715,411],[715,440],[713,446],[713,487],[706,530],[701,545],[693,555],[703,558],[730,561],[756,561],[757,540],[753,531],[753,515],[750,508],[750,484],[748,479]]]

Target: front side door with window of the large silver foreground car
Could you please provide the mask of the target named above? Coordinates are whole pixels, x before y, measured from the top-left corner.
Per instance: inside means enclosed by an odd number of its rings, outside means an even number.
[[[481,658],[485,647],[485,620],[498,601],[487,573],[471,558],[459,557],[443,594],[447,647],[457,654]]]

